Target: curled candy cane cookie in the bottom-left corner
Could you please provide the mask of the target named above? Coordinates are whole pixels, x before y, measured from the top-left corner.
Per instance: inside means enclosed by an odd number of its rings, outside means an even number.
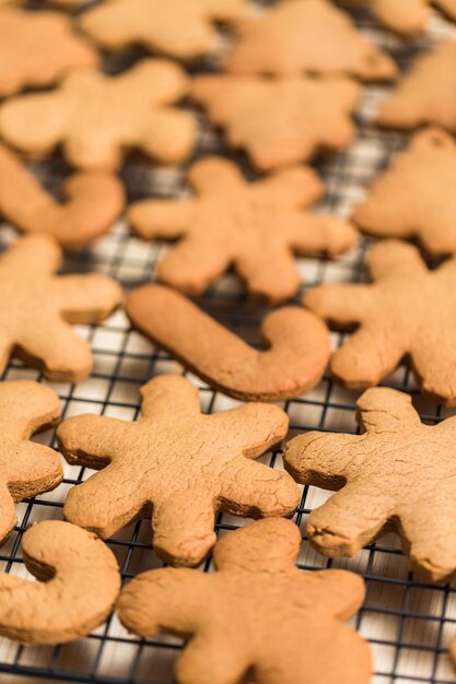
[[[30,528],[25,567],[38,581],[0,575],[0,634],[22,644],[61,644],[101,625],[120,590],[113,552],[94,534],[61,520]]]

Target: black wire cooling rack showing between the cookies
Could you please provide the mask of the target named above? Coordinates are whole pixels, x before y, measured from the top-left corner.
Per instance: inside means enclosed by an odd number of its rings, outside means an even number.
[[[441,17],[434,16],[425,38],[404,46],[390,34],[375,27],[365,14],[360,13],[355,17],[369,37],[388,49],[401,67],[407,67],[416,54],[453,31]],[[221,40],[221,51],[224,45],[225,42]],[[207,67],[215,68],[217,61],[215,58]],[[107,67],[116,70],[124,63],[124,58],[120,61],[116,59]],[[362,198],[364,188],[373,177],[385,168],[390,154],[404,146],[406,137],[381,132],[370,122],[386,90],[365,89],[356,121],[360,127],[358,141],[348,152],[331,155],[317,165],[327,187],[326,198],[321,202],[324,210],[347,215]],[[196,156],[213,152],[229,154],[222,140],[200,115],[199,121],[200,138]],[[253,176],[242,155],[231,156]],[[58,193],[61,177],[68,173],[60,157],[56,156],[45,165],[33,165],[32,168],[43,182]],[[130,157],[122,169],[122,178],[130,200],[147,196],[167,198],[185,192],[184,170],[156,169],[143,158]],[[10,226],[1,226],[2,248],[15,237]],[[348,255],[330,262],[301,259],[299,266],[303,283],[312,286],[320,282],[361,280],[366,246],[369,241],[362,239]],[[164,244],[150,245],[131,237],[125,222],[120,221],[108,236],[93,247],[68,256],[63,271],[108,273],[128,291],[153,280],[157,260],[166,249]],[[222,278],[199,304],[252,344],[259,343],[258,323],[267,310],[246,297],[235,275]],[[80,327],[79,332],[91,341],[94,370],[89,379],[79,385],[52,385],[59,393],[65,417],[91,412],[135,420],[139,413],[139,388],[143,382],[163,373],[184,373],[179,364],[130,330],[122,312],[116,312],[104,325]],[[336,347],[341,343],[342,335],[332,334],[331,339]],[[43,381],[37,372],[25,368],[16,361],[9,365],[3,377]],[[238,403],[212,390],[198,378],[189,374],[187,377],[199,387],[201,402],[208,413]],[[411,392],[422,418],[430,424],[449,413],[419,394],[411,374],[405,367],[400,367],[385,384]],[[343,390],[326,375],[318,387],[305,397],[281,404],[290,416],[290,436],[306,429],[354,432],[355,400],[355,392]],[[37,439],[56,447],[52,431],[42,434]],[[282,468],[280,452],[270,453],[262,461],[273,468]],[[8,542],[0,547],[2,570],[27,576],[21,558],[23,532],[35,521],[61,519],[68,490],[91,474],[92,471],[87,469],[65,464],[65,480],[57,490],[17,506],[17,526]],[[304,540],[299,563],[303,570],[344,567],[365,578],[366,599],[353,624],[371,642],[375,661],[373,683],[454,682],[456,675],[447,647],[456,635],[455,588],[420,581],[410,571],[408,559],[401,554],[394,534],[367,546],[352,559],[330,561],[320,556],[306,541],[305,524],[309,510],[327,496],[328,493],[316,487],[303,488],[301,506],[295,516]],[[182,516],[185,516],[185,510]],[[219,515],[215,527],[221,535],[244,522],[239,518]],[[125,581],[139,571],[162,565],[150,542],[150,520],[147,519],[129,526],[108,541],[118,558]],[[212,569],[210,559],[204,563],[203,569]],[[116,616],[112,616],[85,639],[56,648],[22,647],[9,639],[1,639],[0,682],[30,684],[40,679],[46,682],[171,684],[174,681],[173,664],[180,648],[182,641],[171,637],[139,639],[128,634]]]

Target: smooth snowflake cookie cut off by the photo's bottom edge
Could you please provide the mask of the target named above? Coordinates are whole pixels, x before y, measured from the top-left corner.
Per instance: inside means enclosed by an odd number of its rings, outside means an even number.
[[[163,568],[135,578],[117,609],[135,634],[190,637],[180,684],[367,684],[367,644],[342,621],[360,608],[363,580],[347,570],[295,566],[301,534],[290,520],[259,520],[223,536],[218,573]],[[250,674],[250,676],[247,676]]]

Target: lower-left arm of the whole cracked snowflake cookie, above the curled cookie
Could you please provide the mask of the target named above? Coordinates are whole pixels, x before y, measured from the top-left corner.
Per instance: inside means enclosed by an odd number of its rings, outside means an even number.
[[[108,465],[70,490],[63,515],[70,522],[108,539],[138,518],[143,507],[138,481],[130,472]]]

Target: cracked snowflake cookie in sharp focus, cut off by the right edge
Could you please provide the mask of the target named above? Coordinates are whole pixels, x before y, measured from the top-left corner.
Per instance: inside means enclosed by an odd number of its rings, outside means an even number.
[[[431,581],[456,571],[456,417],[425,425],[409,394],[388,388],[356,402],[362,435],[307,433],[287,445],[301,483],[337,491],[311,512],[307,535],[327,556],[352,556],[391,529]]]

